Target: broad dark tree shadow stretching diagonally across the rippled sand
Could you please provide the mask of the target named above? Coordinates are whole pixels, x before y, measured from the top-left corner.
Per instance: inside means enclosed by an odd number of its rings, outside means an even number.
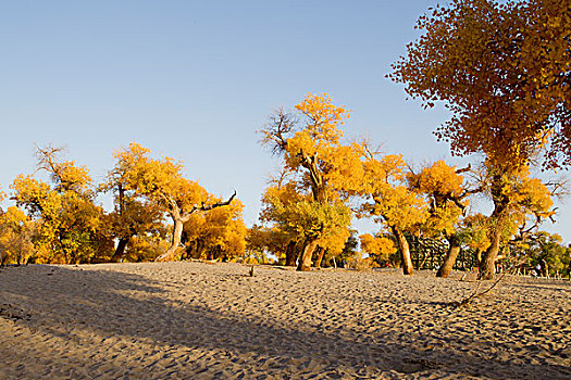
[[[0,294],[7,295],[12,307],[22,307],[22,313],[30,316],[15,324],[62,339],[73,337],[74,331],[88,331],[100,337],[101,342],[105,337],[115,337],[129,342],[154,342],[160,346],[176,347],[173,357],[169,357],[167,353],[162,357],[165,363],[173,358],[182,362],[184,355],[193,362],[200,357],[200,352],[214,351],[222,364],[261,367],[274,376],[284,375],[287,367],[293,378],[297,378],[296,372],[315,372],[315,369],[321,378],[333,377],[334,373],[376,378],[390,370],[400,373],[443,371],[494,379],[504,379],[507,372],[519,379],[566,379],[571,375],[567,366],[489,358],[484,355],[485,347],[482,349],[483,355],[477,357],[445,347],[421,350],[402,341],[402,331],[385,330],[375,337],[367,337],[351,327],[339,327],[333,332],[320,330],[311,322],[300,325],[272,320],[264,317],[263,311],[258,316],[241,315],[212,309],[200,305],[197,300],[173,302],[165,290],[166,282],[135,274],[52,266],[30,268],[38,271],[36,276],[46,276],[46,281],[35,287],[12,289],[9,284],[1,289]],[[240,278],[231,275],[225,280]],[[170,286],[176,287],[175,283]],[[51,295],[47,300],[36,300],[36,294]],[[29,301],[29,309],[13,305],[14,301],[10,301],[21,297]],[[2,296],[0,303],[4,302]],[[434,307],[446,306],[434,303]],[[102,359],[112,366],[114,355],[121,355],[121,352],[105,355],[107,358]],[[530,355],[533,353],[530,352]],[[142,365],[152,368],[151,363],[142,360]],[[128,368],[116,367],[114,370],[128,375]],[[189,364],[187,375],[201,371],[208,372],[208,368]],[[153,377],[152,372],[147,375]],[[398,377],[398,373],[395,376]]]

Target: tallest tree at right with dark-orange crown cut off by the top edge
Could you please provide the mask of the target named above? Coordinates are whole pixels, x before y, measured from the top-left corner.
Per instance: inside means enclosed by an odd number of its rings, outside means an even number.
[[[486,156],[494,211],[485,279],[513,204],[508,182],[525,176],[541,152],[546,167],[571,162],[570,11],[564,0],[452,0],[419,18],[424,34],[389,75],[425,107],[445,102],[451,118],[436,136],[452,154]]]

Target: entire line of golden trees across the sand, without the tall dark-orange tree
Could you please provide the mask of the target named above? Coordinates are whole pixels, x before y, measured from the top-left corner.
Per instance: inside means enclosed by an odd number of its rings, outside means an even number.
[[[87,168],[59,160],[59,149],[38,149],[38,169],[50,180],[14,180],[16,206],[0,213],[1,263],[248,257],[266,263],[270,253],[281,264],[309,270],[360,256],[350,228],[356,216],[381,226],[375,236],[359,237],[370,264],[392,262],[409,275],[413,236],[446,242],[440,243],[447,246],[442,277],[462,246],[481,259],[496,243],[516,266],[537,262],[547,274],[569,265],[560,238],[536,232],[537,223],[554,211],[550,191],[529,172],[506,178],[510,214],[501,238],[493,241],[494,218],[468,212],[473,194],[492,197],[485,165],[457,169],[437,161],[413,170],[401,155],[382,155],[368,141],[344,143],[346,117],[339,115],[347,112],[328,96],[308,94],[293,112],[271,117],[262,141],[283,156],[283,168],[263,194],[261,225],[250,229],[235,194],[223,202],[185,179],[182,163],[152,159],[136,143],[115,153],[115,166],[99,185]],[[113,211],[97,204],[101,192],[113,195]]]

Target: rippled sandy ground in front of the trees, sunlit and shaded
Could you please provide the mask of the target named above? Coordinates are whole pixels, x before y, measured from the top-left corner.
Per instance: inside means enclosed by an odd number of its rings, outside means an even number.
[[[569,281],[248,271],[0,269],[0,379],[571,379]]]

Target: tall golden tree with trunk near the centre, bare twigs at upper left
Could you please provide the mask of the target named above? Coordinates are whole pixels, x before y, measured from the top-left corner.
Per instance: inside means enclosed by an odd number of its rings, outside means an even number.
[[[331,97],[307,94],[295,106],[295,112],[280,110],[261,130],[262,143],[284,157],[285,169],[291,175],[290,183],[298,200],[283,202],[273,191],[268,197],[274,215],[288,218],[288,225],[302,232],[303,249],[298,270],[309,270],[313,252],[320,239],[327,235],[348,238],[350,212],[344,205],[340,189],[349,186],[352,172],[360,169],[359,149],[342,143],[340,127],[349,117],[344,106],[333,104]],[[285,189],[285,188],[284,188]],[[332,233],[332,230],[336,233]],[[335,244],[342,246],[343,244]],[[322,257],[322,256],[321,256]],[[318,259],[321,261],[321,259]]]

